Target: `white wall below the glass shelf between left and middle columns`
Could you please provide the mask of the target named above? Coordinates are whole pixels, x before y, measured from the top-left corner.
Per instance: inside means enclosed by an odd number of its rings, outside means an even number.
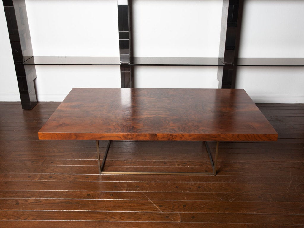
[[[120,66],[36,65],[39,101],[62,101],[72,88],[120,88]]]

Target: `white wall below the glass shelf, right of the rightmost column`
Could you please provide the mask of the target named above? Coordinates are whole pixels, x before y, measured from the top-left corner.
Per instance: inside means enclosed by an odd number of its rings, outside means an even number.
[[[304,67],[239,67],[237,88],[256,103],[304,103]]]

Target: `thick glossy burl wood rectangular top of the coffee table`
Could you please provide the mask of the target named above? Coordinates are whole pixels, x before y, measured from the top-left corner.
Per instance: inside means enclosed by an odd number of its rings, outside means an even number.
[[[38,136],[275,141],[278,134],[243,89],[73,88]]]

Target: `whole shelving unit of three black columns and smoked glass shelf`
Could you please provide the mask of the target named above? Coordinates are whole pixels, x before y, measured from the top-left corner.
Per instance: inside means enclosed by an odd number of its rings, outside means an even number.
[[[26,33],[20,34],[20,30],[26,27],[29,33],[25,0],[3,0],[20,96],[23,97],[22,107],[31,109],[36,103],[35,65],[117,65],[120,66],[122,88],[134,86],[135,66],[215,66],[221,82],[219,88],[234,88],[237,67],[303,67],[304,58],[238,58],[243,2],[223,0],[219,57],[133,57],[132,0],[118,1],[120,57],[42,57],[32,56],[30,39],[26,50],[23,47]],[[22,12],[22,16],[18,12]],[[22,23],[19,21],[21,18]]]

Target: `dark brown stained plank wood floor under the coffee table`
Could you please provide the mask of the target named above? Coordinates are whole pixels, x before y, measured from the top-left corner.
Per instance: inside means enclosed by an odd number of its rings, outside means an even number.
[[[95,141],[38,140],[58,105],[0,102],[0,227],[303,227],[303,104],[258,104],[278,141],[220,143],[217,176],[99,175]],[[210,170],[201,142],[116,141],[108,159],[108,171]]]

